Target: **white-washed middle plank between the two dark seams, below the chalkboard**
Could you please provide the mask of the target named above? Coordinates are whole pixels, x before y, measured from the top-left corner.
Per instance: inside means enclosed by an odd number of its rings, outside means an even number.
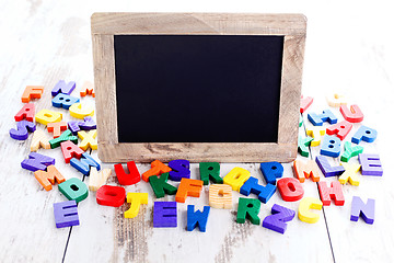
[[[252,176],[258,178],[259,183],[265,184],[257,163],[223,163],[221,175],[225,175],[234,167],[247,169]],[[139,164],[138,169],[144,172],[149,167]],[[193,179],[199,178],[198,163],[193,163],[190,171]],[[289,163],[285,164],[285,176],[292,176],[292,168]],[[112,185],[118,185],[115,176],[112,176],[111,182]],[[171,184],[178,185],[175,182]],[[318,197],[314,183],[305,184],[304,188],[305,196]],[[196,209],[202,209],[204,205],[208,205],[208,186],[204,186],[199,198],[188,197],[185,204],[177,204],[176,228],[162,229],[152,226],[153,202],[157,198],[150,185],[141,181],[138,185],[126,186],[126,192],[149,193],[149,204],[142,205],[138,217],[132,219],[126,219],[123,215],[129,208],[128,204],[119,208],[99,206],[93,199],[94,194],[89,196],[86,204],[81,204],[89,210],[81,216],[81,221],[86,224],[73,229],[66,262],[76,260],[89,262],[96,259],[97,254],[103,262],[236,262],[244,260],[245,254],[254,255],[246,258],[252,261],[265,259],[275,259],[278,262],[293,261],[292,256],[296,254],[297,260],[302,262],[314,261],[316,254],[326,262],[332,261],[323,215],[321,215],[322,220],[313,226],[294,219],[289,222],[288,231],[281,236],[260,225],[235,222],[237,199],[245,196],[233,192],[232,209],[211,208],[206,233],[198,230],[187,232],[187,205],[193,204]],[[255,196],[252,194],[250,197]],[[160,201],[174,201],[174,196],[166,196]],[[267,205],[262,205],[259,213],[262,221],[270,215],[270,207],[276,203],[298,210],[299,202],[283,202],[277,193]],[[81,243],[86,243],[90,249]],[[310,243],[316,253],[298,253],[300,243]],[[103,247],[108,249],[101,251]],[[88,253],[88,250],[91,252]],[[283,250],[287,253],[281,253]],[[190,254],[194,256],[190,258]]]

